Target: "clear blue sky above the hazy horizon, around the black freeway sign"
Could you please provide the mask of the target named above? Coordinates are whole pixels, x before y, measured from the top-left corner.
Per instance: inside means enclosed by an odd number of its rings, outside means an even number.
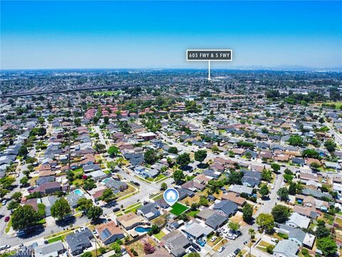
[[[1,69],[342,67],[341,1],[1,1]]]

